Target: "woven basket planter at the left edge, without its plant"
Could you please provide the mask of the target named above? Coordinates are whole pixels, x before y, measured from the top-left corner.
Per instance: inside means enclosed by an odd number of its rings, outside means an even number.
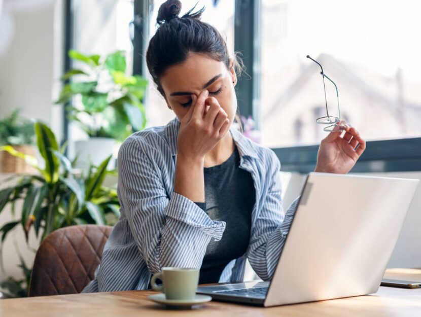
[[[31,145],[13,146],[16,151],[23,154],[36,156],[35,150]],[[26,162],[6,151],[0,152],[0,170],[2,173],[36,173],[36,169],[26,164]]]

